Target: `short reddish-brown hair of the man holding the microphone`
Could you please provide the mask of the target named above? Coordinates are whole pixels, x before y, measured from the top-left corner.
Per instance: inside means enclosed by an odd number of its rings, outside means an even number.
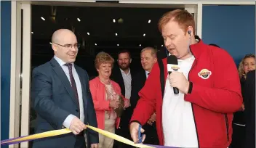
[[[187,10],[175,9],[171,12],[165,13],[159,20],[160,32],[161,28],[163,28],[164,25],[167,25],[170,20],[177,22],[185,33],[188,31],[188,26],[192,26],[193,34],[196,34],[195,20],[193,15],[191,15],[191,13],[189,13]]]

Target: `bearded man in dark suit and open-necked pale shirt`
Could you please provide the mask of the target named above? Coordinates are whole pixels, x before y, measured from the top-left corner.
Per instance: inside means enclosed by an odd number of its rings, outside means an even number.
[[[132,62],[131,54],[127,50],[122,50],[118,54],[117,65],[118,67],[113,67],[111,73],[111,80],[119,83],[121,88],[121,94],[125,98],[129,99],[132,91],[132,70],[130,70],[129,65]],[[128,107],[129,108],[129,107]],[[116,130],[116,134],[123,136],[124,138],[129,138],[129,116],[127,110],[124,110],[121,115],[121,121],[119,128]],[[124,147],[124,144],[119,141],[114,141],[113,147]]]

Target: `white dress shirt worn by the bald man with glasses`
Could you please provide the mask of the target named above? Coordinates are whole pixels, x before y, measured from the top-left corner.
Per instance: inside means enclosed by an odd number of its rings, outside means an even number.
[[[69,70],[68,70],[68,66],[65,66],[65,62],[63,62],[63,60],[61,60],[58,57],[54,57],[56,59],[56,61],[60,64],[60,67],[63,68],[63,71],[65,73],[65,75],[68,77],[68,81],[71,83],[71,78],[69,77]],[[82,90],[81,90],[81,82],[79,79],[79,75],[76,73],[76,69],[75,66],[72,63],[72,74],[73,74],[73,78],[75,79],[76,82],[76,89],[77,89],[77,94],[79,95],[79,108],[80,108],[80,120],[81,122],[84,123],[84,102],[83,102],[83,94],[82,94]],[[65,126],[66,128],[69,128],[69,126],[71,126],[71,121],[73,120],[73,118],[76,117],[75,115],[68,115],[67,118],[65,118],[64,122],[63,122],[63,126]]]

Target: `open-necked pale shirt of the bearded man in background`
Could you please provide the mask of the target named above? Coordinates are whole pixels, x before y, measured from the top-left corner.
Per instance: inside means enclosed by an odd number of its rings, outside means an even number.
[[[121,70],[121,69],[120,69]],[[129,99],[131,97],[131,90],[132,90],[132,75],[129,72],[126,74],[123,70],[121,70],[121,76],[124,80],[124,88],[125,88],[125,98]]]

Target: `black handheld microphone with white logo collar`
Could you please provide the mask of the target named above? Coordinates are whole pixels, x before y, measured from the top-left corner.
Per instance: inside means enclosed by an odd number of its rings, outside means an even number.
[[[177,64],[177,57],[174,55],[170,55],[167,57],[167,70],[168,73],[171,74],[173,71],[178,71],[180,69],[179,65]],[[179,94],[179,89],[176,87],[173,88],[175,94]]]

